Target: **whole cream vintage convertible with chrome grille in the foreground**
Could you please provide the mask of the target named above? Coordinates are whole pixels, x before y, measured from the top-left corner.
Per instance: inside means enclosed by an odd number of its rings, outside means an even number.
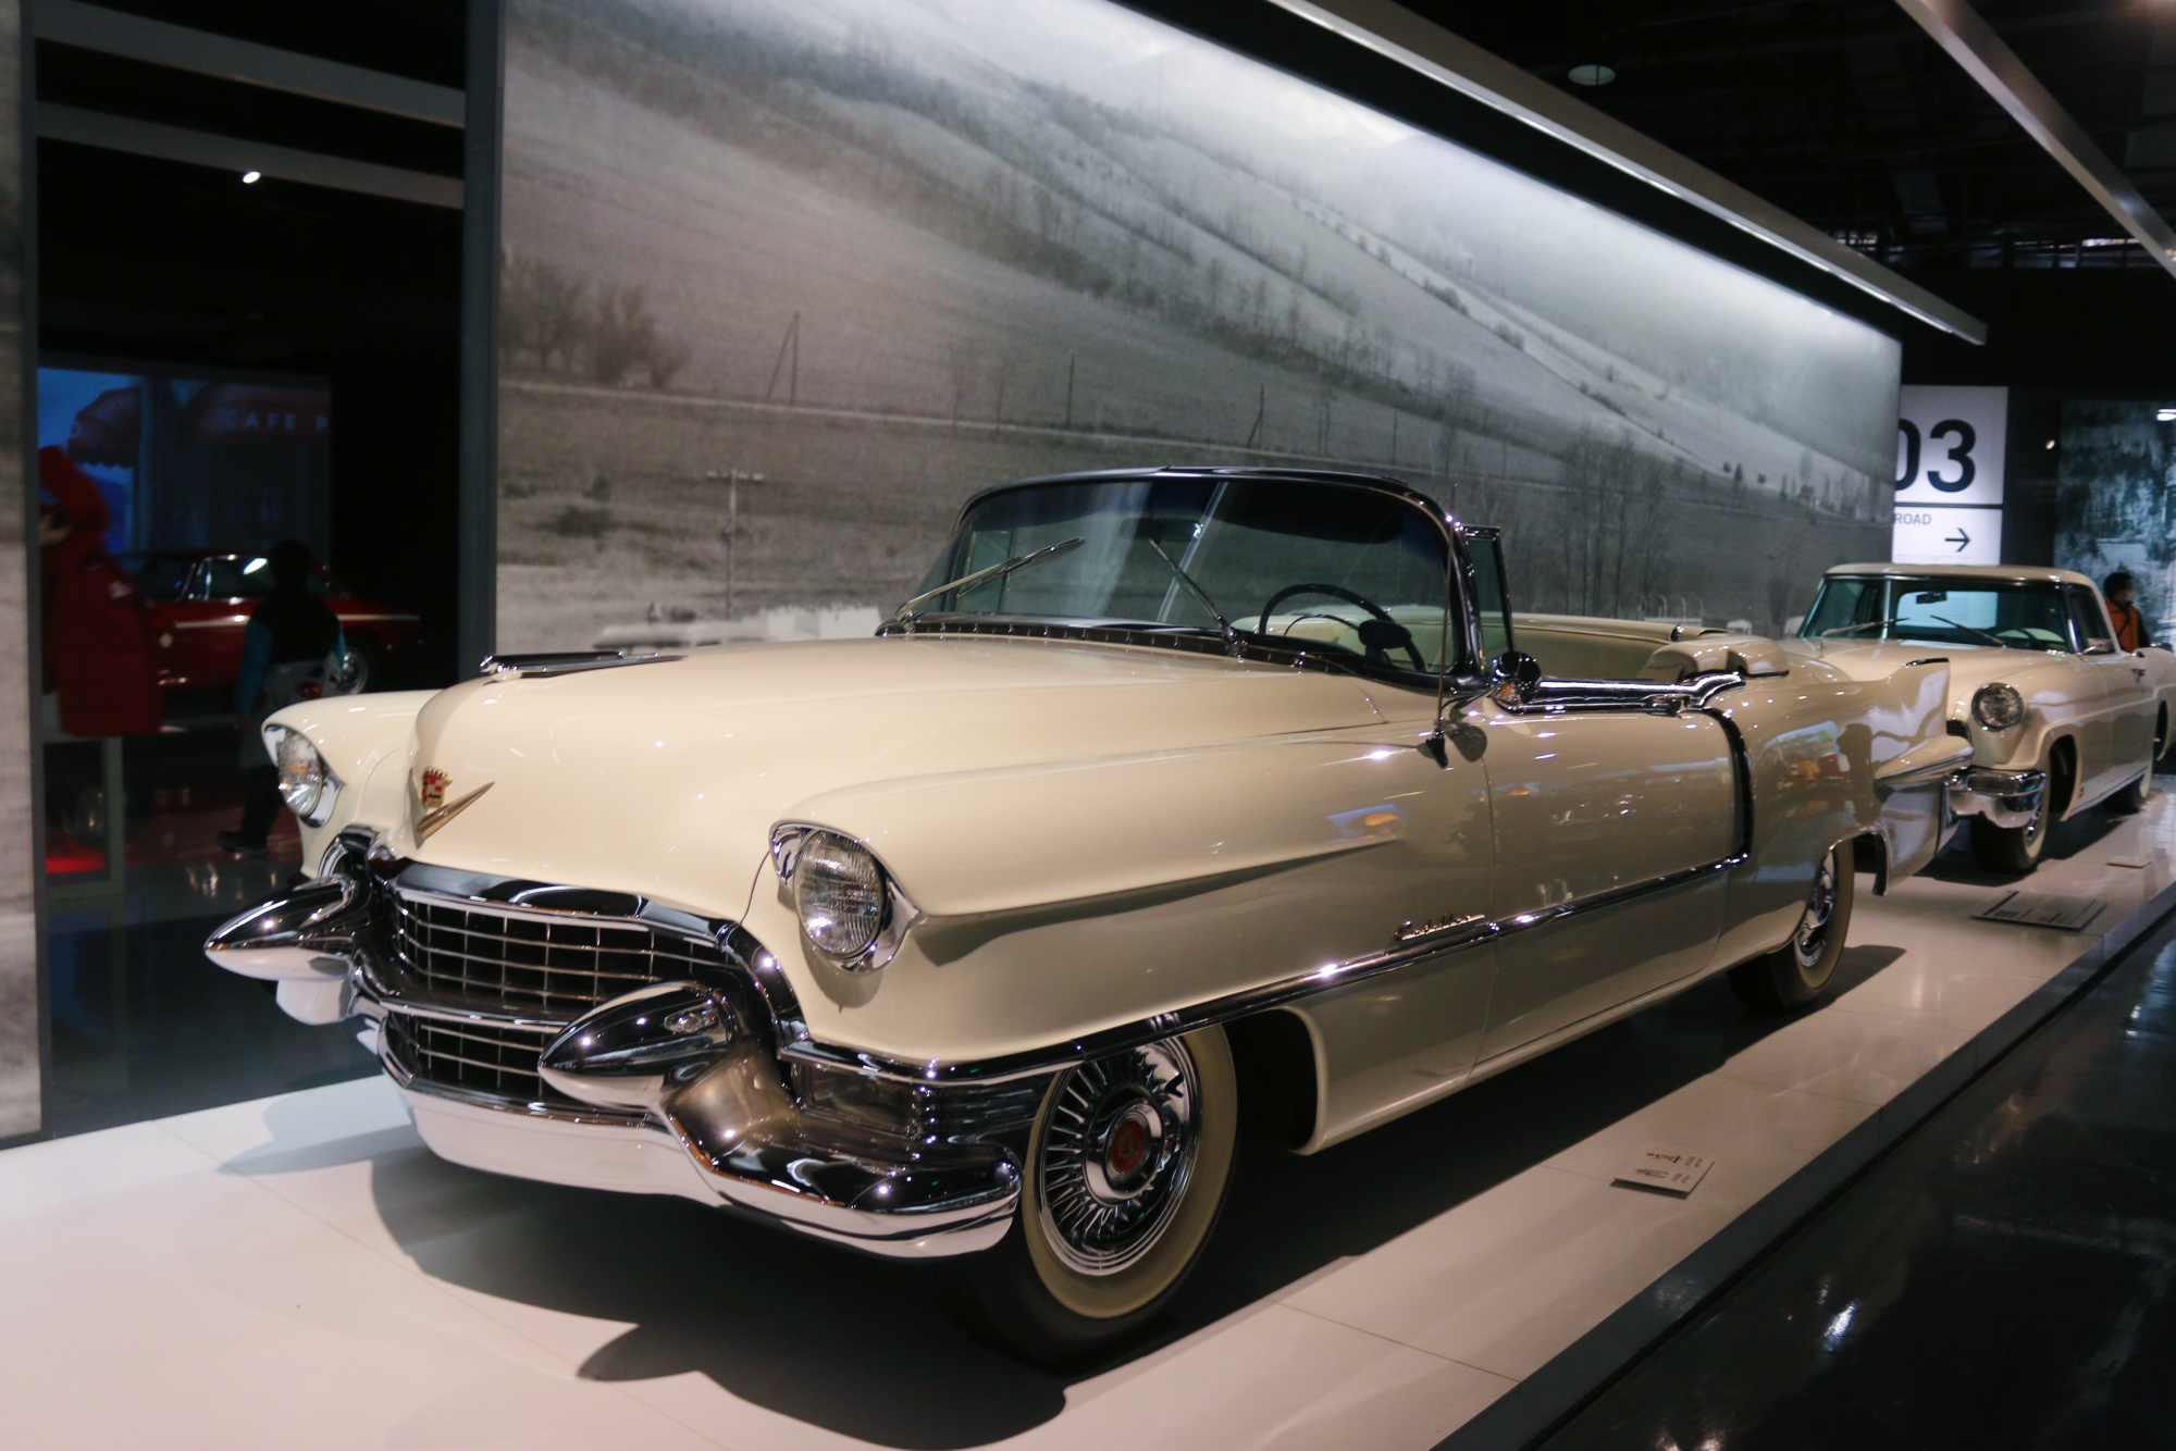
[[[316,881],[207,951],[368,1018],[448,1159],[947,1257],[981,1334],[1086,1353],[1195,1264],[1242,1109],[1312,1153],[1717,970],[1806,1003],[1854,855],[1934,848],[1941,668],[1538,679],[1499,581],[1373,479],[990,489],[875,640],[281,711]]]

